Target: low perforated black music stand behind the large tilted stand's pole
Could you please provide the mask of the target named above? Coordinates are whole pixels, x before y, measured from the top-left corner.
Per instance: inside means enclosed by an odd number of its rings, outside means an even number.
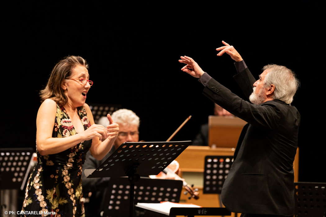
[[[159,203],[171,201],[178,203],[182,190],[182,181],[141,178],[134,187],[134,202]],[[101,216],[127,216],[129,210],[123,209],[129,204],[130,182],[127,178],[111,178],[107,188]]]

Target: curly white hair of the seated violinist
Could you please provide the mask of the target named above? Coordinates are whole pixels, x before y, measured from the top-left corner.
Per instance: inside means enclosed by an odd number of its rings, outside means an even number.
[[[113,112],[112,120],[123,126],[137,125],[139,127],[139,117],[129,109],[119,109]]]

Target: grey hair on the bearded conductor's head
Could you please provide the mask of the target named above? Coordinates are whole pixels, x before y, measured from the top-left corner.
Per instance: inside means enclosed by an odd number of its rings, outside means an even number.
[[[269,71],[264,79],[264,88],[269,88],[272,84],[275,86],[273,99],[290,104],[300,85],[294,72],[285,66],[276,64],[265,65],[262,70]]]

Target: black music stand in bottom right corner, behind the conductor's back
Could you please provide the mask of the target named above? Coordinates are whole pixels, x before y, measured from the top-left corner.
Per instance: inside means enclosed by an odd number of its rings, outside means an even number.
[[[295,182],[295,216],[326,216],[326,183]]]

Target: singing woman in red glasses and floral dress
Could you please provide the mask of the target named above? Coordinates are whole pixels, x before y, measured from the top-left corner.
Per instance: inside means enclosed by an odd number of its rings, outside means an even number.
[[[40,91],[38,162],[26,186],[23,211],[38,211],[40,216],[85,215],[81,177],[86,153],[90,150],[101,160],[119,132],[119,125],[109,114],[106,128],[94,123],[85,103],[92,85],[86,61],[68,56],[54,66],[46,87]]]

